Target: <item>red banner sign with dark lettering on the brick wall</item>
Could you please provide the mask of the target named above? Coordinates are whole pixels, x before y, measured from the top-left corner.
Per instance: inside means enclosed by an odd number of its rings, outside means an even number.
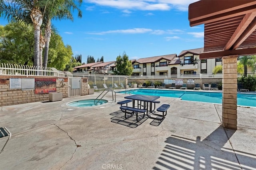
[[[56,78],[35,78],[35,94],[56,92]]]

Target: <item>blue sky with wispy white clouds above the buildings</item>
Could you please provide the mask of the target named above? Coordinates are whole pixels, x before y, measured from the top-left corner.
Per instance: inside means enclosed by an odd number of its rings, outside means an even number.
[[[204,47],[204,25],[189,26],[188,5],[197,0],[84,0],[82,18],[53,21],[74,55],[116,61],[179,54]],[[6,21],[0,19],[0,25]]]

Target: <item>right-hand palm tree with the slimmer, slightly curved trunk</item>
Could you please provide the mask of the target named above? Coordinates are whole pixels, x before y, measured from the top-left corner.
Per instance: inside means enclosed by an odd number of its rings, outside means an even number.
[[[78,4],[76,4],[76,1]],[[82,18],[82,11],[78,8],[82,0],[52,0],[44,8],[44,64],[47,66],[50,37],[52,34],[52,19],[69,19],[73,21],[72,11],[78,10],[78,17]]]

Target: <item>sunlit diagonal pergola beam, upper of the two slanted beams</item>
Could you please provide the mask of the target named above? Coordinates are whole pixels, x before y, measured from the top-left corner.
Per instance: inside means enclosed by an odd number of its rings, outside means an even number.
[[[256,12],[252,12],[252,13],[246,14],[244,16],[244,18],[242,19],[242,21],[240,22],[240,24],[236,28],[236,31],[233,33],[232,37],[229,39],[228,43],[224,47],[223,51],[231,50],[230,48],[232,47],[232,45],[242,35],[242,33],[244,32],[244,30],[246,30],[248,25],[250,25],[250,23],[254,20],[255,16],[256,16]],[[240,44],[241,43],[242,42],[240,42]]]

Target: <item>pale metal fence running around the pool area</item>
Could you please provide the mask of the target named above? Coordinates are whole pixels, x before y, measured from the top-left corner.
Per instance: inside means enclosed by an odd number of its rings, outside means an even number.
[[[108,74],[87,74],[87,73],[71,73],[59,71],[52,67],[39,67],[39,66],[27,66],[18,64],[5,64],[0,63],[0,75],[3,76],[54,76],[54,77],[87,77],[88,84],[92,87],[92,84],[96,84],[98,88],[103,88],[102,84],[106,84],[108,87],[116,83],[118,86],[120,83],[126,84],[125,80],[132,79],[184,79],[184,78],[222,78],[223,74],[180,74],[180,75],[159,75],[159,76],[119,76]],[[256,75],[256,72],[248,72],[247,75]],[[242,74],[238,74],[238,77]]]

